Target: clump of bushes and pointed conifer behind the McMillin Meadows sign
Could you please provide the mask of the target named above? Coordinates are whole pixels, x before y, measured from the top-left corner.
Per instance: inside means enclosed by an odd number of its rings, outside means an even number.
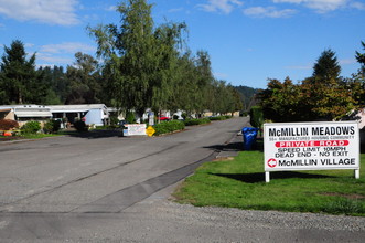
[[[364,83],[340,78],[335,53],[324,51],[314,65],[313,76],[293,84],[270,80],[259,93],[266,119],[273,122],[334,120],[363,103]]]

